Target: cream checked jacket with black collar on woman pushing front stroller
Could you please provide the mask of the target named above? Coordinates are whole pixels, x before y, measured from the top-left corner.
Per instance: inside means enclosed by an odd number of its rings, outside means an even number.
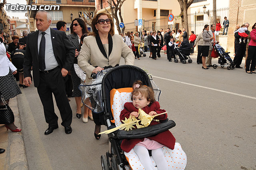
[[[109,44],[103,44],[107,56],[104,56],[97,44],[95,36],[84,38],[83,45],[78,55],[78,66],[86,72],[86,82],[90,82],[91,74],[96,67],[108,67],[119,65],[121,57],[124,58],[126,65],[134,64],[134,54],[132,50],[124,43],[122,36],[114,34],[112,37],[112,51],[109,54]]]

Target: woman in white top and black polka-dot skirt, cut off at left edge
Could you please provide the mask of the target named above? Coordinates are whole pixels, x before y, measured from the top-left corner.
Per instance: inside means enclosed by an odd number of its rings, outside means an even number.
[[[3,96],[4,102],[9,103],[10,98],[16,97],[21,94],[19,86],[14,80],[13,74],[17,73],[17,68],[9,61],[6,56],[6,48],[4,46],[2,37],[0,38],[0,96]],[[4,105],[2,99],[0,100],[0,107]],[[2,122],[0,120],[0,122]],[[17,128],[14,123],[6,124],[6,129],[12,132],[20,132],[21,129]]]

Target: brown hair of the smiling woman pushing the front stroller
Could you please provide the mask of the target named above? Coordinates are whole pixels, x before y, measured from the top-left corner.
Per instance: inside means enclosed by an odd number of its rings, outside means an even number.
[[[98,22],[98,19],[100,18],[100,16],[102,15],[106,15],[108,16],[108,18],[110,19],[110,30],[108,32],[108,34],[110,34],[111,36],[113,36],[115,34],[115,30],[114,30],[114,23],[112,21],[112,18],[110,16],[110,14],[106,13],[106,12],[100,12],[100,13],[97,13],[96,15],[94,15],[94,17],[92,18],[92,33],[90,33],[90,35],[93,35],[93,36],[98,36],[99,33],[98,33],[98,30],[96,29],[96,24]]]

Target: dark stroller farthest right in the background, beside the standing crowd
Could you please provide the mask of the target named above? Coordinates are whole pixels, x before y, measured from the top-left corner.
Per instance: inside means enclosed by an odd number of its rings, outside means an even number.
[[[215,44],[214,46],[214,50],[218,53],[218,56],[220,57],[218,59],[218,64],[213,64],[213,68],[216,69],[218,66],[224,67],[227,66],[227,69],[234,69],[235,68],[235,64],[233,62],[233,60],[230,58],[230,56],[228,55],[230,52],[225,52],[225,50],[222,48],[222,46],[220,46],[219,44]]]

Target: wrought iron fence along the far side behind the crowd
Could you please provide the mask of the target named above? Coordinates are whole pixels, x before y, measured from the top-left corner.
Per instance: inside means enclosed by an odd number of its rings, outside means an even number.
[[[213,10],[208,10],[206,12],[195,12],[188,14],[188,33],[190,34],[191,31],[194,31],[195,34],[199,34],[202,32],[204,25],[213,24]],[[216,10],[216,20],[220,21],[222,25],[224,17],[228,17],[229,8],[221,8]],[[143,20],[143,30],[166,30],[167,28],[171,28],[171,30],[175,30],[176,32],[178,29],[182,30],[182,22],[180,16],[174,16],[174,24],[168,25],[168,17],[152,19],[152,20]],[[138,27],[134,25],[134,22],[125,23],[125,32],[128,31],[138,31]]]

